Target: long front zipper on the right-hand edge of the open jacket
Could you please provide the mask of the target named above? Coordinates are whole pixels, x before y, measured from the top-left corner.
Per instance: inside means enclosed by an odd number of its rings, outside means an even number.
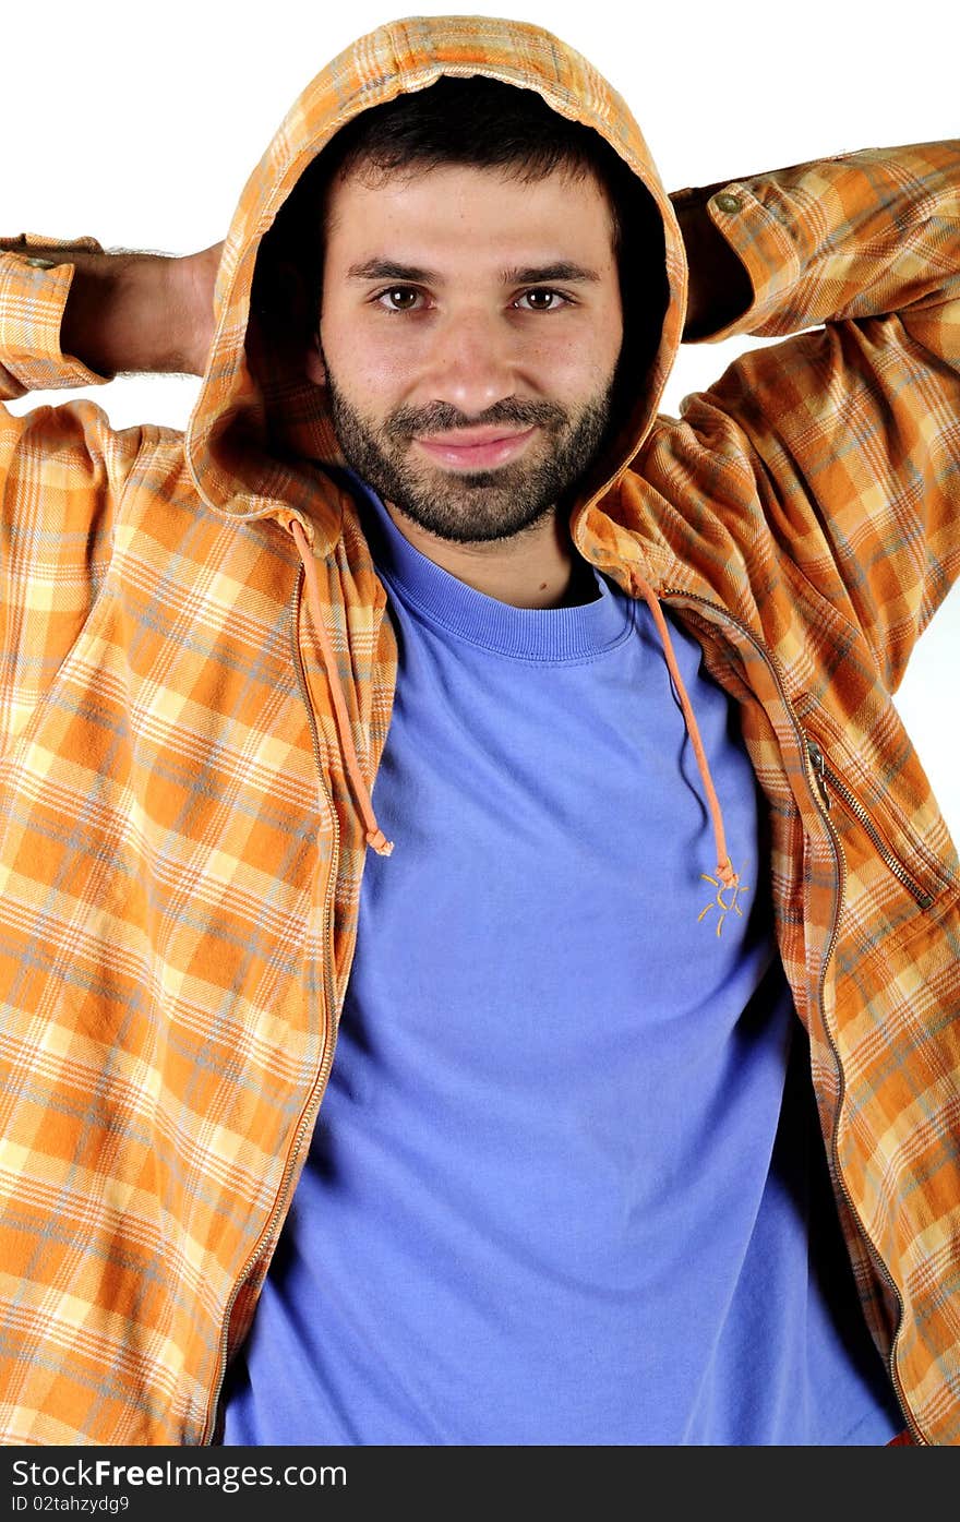
[[[756,635],[745,624],[742,624],[739,621],[739,618],[733,618],[733,615],[729,613],[726,610],[726,607],[721,607],[718,603],[712,603],[706,597],[698,597],[695,592],[685,592],[680,587],[671,587],[669,591],[663,592],[663,597],[685,598],[689,603],[700,603],[703,607],[710,609],[712,613],[718,615],[718,618],[720,618],[721,622],[726,621],[727,624],[732,624],[735,629],[738,629],[750,641],[750,644],[753,645],[753,648],[756,650],[756,653],[759,654],[759,658],[762,661],[765,661],[767,667],[773,673],[773,679],[774,679],[777,691],[780,694],[780,700],[784,703],[784,711],[787,712],[787,717],[788,717],[790,724],[791,724],[791,728],[794,731],[794,735],[797,737],[797,744],[800,747],[800,752],[805,753],[805,755],[809,755],[811,741],[808,740],[808,737],[806,737],[806,734],[805,734],[805,731],[803,731],[799,718],[796,717],[796,714],[793,711],[793,705],[791,705],[791,702],[790,702],[790,699],[787,696],[787,685],[785,685],[785,680],[784,680],[784,674],[782,674],[777,656],[771,650],[767,650],[767,647],[764,644],[761,644],[761,641],[756,638]],[[819,749],[820,747],[817,746],[817,750]],[[811,759],[812,759],[812,756],[811,756]],[[928,1447],[930,1444],[927,1443],[927,1438],[920,1432],[920,1429],[919,1429],[919,1426],[916,1423],[916,1417],[913,1415],[913,1412],[911,1412],[911,1409],[910,1409],[910,1406],[907,1403],[907,1399],[904,1396],[904,1387],[901,1383],[901,1377],[899,1377],[899,1373],[898,1373],[898,1368],[896,1368],[896,1344],[898,1344],[898,1339],[899,1339],[899,1335],[901,1335],[901,1327],[904,1324],[904,1301],[901,1298],[901,1292],[899,1292],[896,1283],[893,1282],[893,1275],[890,1274],[890,1269],[884,1263],[882,1257],[879,1256],[878,1248],[873,1245],[873,1242],[870,1239],[870,1234],[864,1228],[861,1215],[860,1215],[857,1205],[854,1204],[854,1199],[852,1199],[850,1192],[849,1192],[849,1189],[847,1189],[847,1186],[846,1186],[846,1183],[843,1180],[843,1173],[840,1170],[840,1164],[838,1164],[838,1160],[837,1160],[837,1134],[838,1134],[838,1129],[840,1129],[840,1111],[843,1110],[843,1100],[844,1100],[844,1096],[846,1096],[846,1078],[844,1078],[844,1073],[843,1073],[843,1064],[840,1061],[840,1052],[837,1050],[837,1043],[834,1041],[834,1033],[832,1033],[832,1030],[829,1027],[829,1023],[826,1020],[826,1011],[825,1011],[825,1003],[823,1003],[823,989],[826,986],[826,970],[829,966],[831,957],[834,954],[834,948],[837,945],[837,938],[840,935],[840,907],[841,907],[841,903],[843,903],[843,895],[846,892],[846,858],[843,855],[843,846],[840,843],[840,836],[837,834],[837,831],[834,828],[834,822],[829,817],[829,794],[826,793],[826,782],[825,782],[825,778],[823,778],[825,772],[826,772],[826,764],[823,763],[823,753],[820,752],[820,770],[815,773],[817,775],[817,787],[814,790],[814,787],[811,785],[811,782],[809,782],[809,773],[808,773],[806,785],[809,787],[809,793],[811,793],[811,798],[812,798],[814,805],[817,808],[817,813],[820,814],[820,817],[823,819],[823,823],[826,825],[826,829],[828,829],[828,834],[829,834],[829,839],[831,839],[831,843],[832,843],[832,848],[834,848],[834,860],[837,863],[837,874],[838,874],[838,880],[840,880],[838,890],[837,890],[837,893],[834,896],[834,919],[832,919],[832,924],[831,924],[831,933],[829,933],[829,938],[828,938],[826,951],[823,954],[823,965],[822,965],[822,970],[820,970],[820,982],[819,982],[819,986],[817,986],[817,1005],[820,1008],[820,1018],[823,1021],[823,1029],[826,1030],[826,1038],[829,1041],[831,1052],[834,1055],[834,1064],[835,1064],[835,1068],[837,1068],[837,1078],[838,1078],[838,1084],[840,1084],[840,1093],[837,1096],[837,1114],[835,1114],[835,1119],[834,1119],[834,1131],[832,1131],[832,1135],[831,1135],[831,1158],[829,1158],[829,1161],[831,1161],[831,1177],[835,1181],[835,1187],[840,1189],[840,1193],[843,1195],[843,1198],[846,1201],[846,1205],[847,1205],[847,1208],[850,1212],[850,1216],[857,1222],[860,1234],[861,1234],[863,1240],[867,1245],[867,1251],[869,1251],[869,1254],[870,1254],[870,1257],[873,1260],[873,1265],[878,1269],[882,1282],[887,1285],[887,1289],[890,1291],[890,1295],[893,1297],[893,1301],[895,1301],[895,1304],[898,1307],[896,1327],[895,1327],[895,1332],[893,1332],[893,1338],[890,1341],[890,1355],[887,1358],[887,1371],[890,1374],[890,1382],[893,1385],[896,1399],[899,1400],[901,1411],[904,1412],[904,1420],[907,1422],[907,1428],[910,1431],[910,1435],[911,1435],[913,1441],[919,1447]],[[835,785],[832,773],[829,773],[829,775],[831,775],[832,785]],[[843,788],[843,787],[838,787],[837,790],[846,793],[846,788]],[[854,799],[854,802],[857,802],[857,799]],[[855,811],[858,813],[858,817],[860,817],[860,805],[857,805]],[[870,839],[876,840],[876,833],[873,829],[870,829]],[[895,861],[896,861],[896,858],[895,858]],[[901,866],[899,861],[896,864],[898,864],[898,868]],[[902,868],[901,868],[901,872],[902,872]],[[901,877],[901,872],[898,872],[896,875]]]

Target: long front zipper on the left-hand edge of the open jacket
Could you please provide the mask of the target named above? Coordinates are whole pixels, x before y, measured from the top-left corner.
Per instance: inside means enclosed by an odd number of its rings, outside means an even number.
[[[233,1306],[236,1303],[236,1298],[237,1298],[240,1289],[246,1283],[250,1271],[253,1269],[254,1263],[257,1262],[257,1257],[260,1256],[262,1243],[265,1240],[269,1240],[269,1237],[271,1237],[271,1234],[274,1231],[274,1225],[277,1224],[277,1221],[281,1218],[283,1212],[286,1210],[288,1195],[289,1195],[289,1183],[291,1183],[291,1178],[294,1177],[294,1170],[295,1170],[295,1166],[297,1166],[297,1158],[300,1155],[300,1148],[301,1148],[301,1143],[303,1143],[303,1138],[304,1138],[306,1132],[309,1131],[309,1128],[313,1125],[313,1120],[316,1119],[316,1113],[319,1110],[319,1103],[321,1103],[321,1099],[324,1096],[324,1090],[327,1087],[327,1079],[330,1076],[330,1068],[333,1065],[333,1050],[336,1047],[338,1012],[336,1012],[336,988],[335,988],[333,971],[332,971],[332,965],[333,963],[332,963],[332,957],[329,957],[323,948],[326,948],[327,939],[329,939],[329,931],[330,931],[330,906],[333,903],[333,887],[336,884],[336,872],[338,872],[338,864],[339,864],[339,820],[336,817],[336,810],[333,807],[333,799],[330,798],[330,790],[327,787],[326,776],[324,776],[323,756],[321,756],[321,752],[319,752],[319,734],[316,731],[316,715],[313,714],[313,705],[310,703],[310,693],[309,693],[309,688],[307,688],[307,679],[306,679],[306,673],[303,670],[303,656],[300,653],[300,604],[301,604],[301,595],[303,595],[303,577],[304,577],[304,572],[303,572],[303,566],[301,566],[300,568],[300,575],[297,577],[297,586],[294,589],[294,606],[292,606],[292,616],[291,616],[291,647],[292,647],[292,651],[294,651],[294,670],[297,673],[297,686],[300,688],[300,696],[301,696],[301,699],[304,702],[304,706],[306,706],[306,711],[307,711],[307,717],[310,720],[310,738],[312,738],[312,743],[313,743],[313,761],[316,763],[316,775],[319,776],[319,784],[321,784],[321,787],[324,790],[324,798],[326,798],[327,807],[330,810],[330,819],[333,820],[333,848],[332,848],[332,852],[330,852],[330,872],[327,875],[327,892],[326,892],[326,898],[324,898],[323,933],[321,933],[321,954],[323,954],[323,962],[324,962],[324,991],[326,991],[326,997],[327,997],[327,1040],[326,1040],[326,1046],[324,1046],[323,1061],[321,1061],[321,1065],[319,1065],[319,1073],[316,1075],[316,1079],[315,1079],[315,1084],[313,1084],[313,1093],[310,1096],[310,1102],[309,1102],[307,1108],[304,1110],[304,1113],[301,1116],[301,1120],[300,1120],[300,1125],[297,1126],[297,1132],[294,1135],[294,1146],[291,1149],[289,1161],[288,1161],[288,1166],[285,1169],[283,1178],[280,1181],[280,1190],[277,1193],[277,1199],[274,1201],[274,1208],[271,1210],[269,1219],[266,1222],[266,1227],[260,1233],[260,1237],[257,1239],[257,1245],[253,1250],[253,1253],[250,1254],[250,1257],[246,1259],[246,1262],[243,1265],[243,1269],[240,1272],[240,1277],[237,1278],[236,1285],[233,1286],[233,1291],[230,1292],[230,1300],[227,1301],[227,1310],[225,1310],[225,1315],[224,1315],[224,1330],[222,1330],[222,1335],[221,1335],[219,1367],[218,1367],[218,1374],[216,1374],[216,1380],[215,1380],[215,1387],[213,1387],[215,1388],[215,1397],[213,1397],[213,1402],[207,1406],[207,1420],[204,1423],[204,1432],[202,1432],[202,1437],[201,1437],[201,1444],[208,1444],[211,1441],[213,1435],[216,1434],[218,1406],[219,1406],[219,1402],[221,1402],[221,1391],[224,1388],[224,1376],[227,1373],[227,1342],[228,1342],[228,1336],[230,1336],[230,1317],[233,1315]]]

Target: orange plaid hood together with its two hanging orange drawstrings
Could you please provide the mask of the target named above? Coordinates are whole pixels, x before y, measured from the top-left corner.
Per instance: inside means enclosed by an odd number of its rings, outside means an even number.
[[[631,204],[630,210],[642,205],[645,265],[631,282],[621,260],[621,283],[625,300],[641,288],[642,315],[633,318],[637,326],[631,329],[625,306],[621,368],[627,371],[627,384],[607,446],[580,482],[571,507],[571,534],[578,548],[592,504],[625,470],[653,426],[686,317],[683,237],[644,134],[616,90],[581,53],[526,21],[441,15],[408,17],[377,27],[339,53],[306,87],[250,177],[218,272],[216,332],[187,426],[187,466],[196,490],[215,511],[237,519],[274,517],[297,542],[350,787],[367,843],[380,855],[389,855],[393,842],[377,825],[370,784],[358,758],[316,571],[318,557],[326,557],[339,540],[344,496],[330,478],[345,460],[333,432],[326,390],[300,374],[289,344],[285,359],[283,338],[271,329],[269,320],[250,323],[251,289],[262,254],[269,266],[269,234],[280,209],[330,139],[359,113],[385,105],[397,94],[426,90],[443,75],[485,75],[519,90],[536,90],[551,110],[599,132],[636,177],[636,207]],[[627,189],[618,193],[630,196],[633,178],[627,175],[624,183]],[[656,272],[659,297],[648,295],[654,288],[651,272]],[[651,310],[657,300],[660,310]],[[630,306],[633,309],[631,300]],[[599,511],[602,516],[602,508]],[[633,595],[647,600],[656,621],[707,796],[718,878],[730,887],[736,874],[726,848],[720,802],[669,630],[639,571],[631,572],[630,586]]]

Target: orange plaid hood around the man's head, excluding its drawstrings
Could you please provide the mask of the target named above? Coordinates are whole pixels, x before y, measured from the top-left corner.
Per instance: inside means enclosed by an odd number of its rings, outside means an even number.
[[[574,516],[625,469],[650,432],[672,368],[686,315],[688,268],[671,201],[625,102],[575,49],[525,21],[491,17],[408,17],[359,38],[303,90],[250,177],[225,240],[215,294],[215,338],[186,432],[190,475],[202,499],[230,517],[275,517],[301,525],[326,554],[339,536],[339,493],[318,490],[323,466],[342,466],[326,391],[277,352],[248,355],[257,256],[307,164],[361,111],[443,75],[485,75],[536,90],[561,116],[599,132],[656,207],[663,233],[662,320],[647,341],[642,385],[602,457],[581,482]],[[628,341],[628,332],[625,333]],[[627,342],[625,342],[627,349]]]

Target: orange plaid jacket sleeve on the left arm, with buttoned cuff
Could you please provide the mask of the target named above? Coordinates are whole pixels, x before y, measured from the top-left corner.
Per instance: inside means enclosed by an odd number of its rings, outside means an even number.
[[[87,387],[97,376],[61,353],[73,265],[43,266],[41,239],[0,242],[0,397]],[[53,239],[44,239],[50,247]],[[96,250],[91,239],[82,247]],[[73,648],[110,563],[116,505],[140,429],[114,431],[88,400],[0,405],[0,752]]]

